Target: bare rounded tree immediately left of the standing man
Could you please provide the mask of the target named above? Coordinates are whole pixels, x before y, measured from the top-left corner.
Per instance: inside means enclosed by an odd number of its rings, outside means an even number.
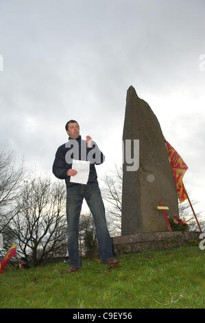
[[[12,219],[12,234],[19,254],[40,265],[67,249],[66,192],[64,183],[34,178],[21,190],[21,211]]]

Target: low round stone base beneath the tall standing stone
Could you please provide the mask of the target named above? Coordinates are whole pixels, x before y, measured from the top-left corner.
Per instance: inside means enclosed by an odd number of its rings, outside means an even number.
[[[171,249],[183,245],[198,246],[200,232],[172,231],[172,232],[144,232],[114,236],[112,238],[114,254],[143,252],[154,249]]]

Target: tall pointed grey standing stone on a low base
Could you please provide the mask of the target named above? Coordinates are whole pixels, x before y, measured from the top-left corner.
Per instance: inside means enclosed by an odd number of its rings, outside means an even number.
[[[138,170],[128,170],[125,140],[132,140],[132,157],[134,140],[139,140]],[[162,201],[169,206],[168,216],[178,216],[178,197],[165,138],[156,115],[132,86],[126,98],[123,144],[121,235],[168,231],[157,206]]]

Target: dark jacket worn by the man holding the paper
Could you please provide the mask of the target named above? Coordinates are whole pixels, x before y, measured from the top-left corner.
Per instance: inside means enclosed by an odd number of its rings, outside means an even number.
[[[73,139],[71,139],[71,137],[69,137],[69,141],[70,140],[71,140],[71,142],[73,141]],[[95,163],[91,162],[91,164],[90,164],[90,172],[89,172],[89,177],[88,177],[88,183],[92,183],[92,182],[97,183],[97,172],[95,170],[95,164],[96,165],[102,164],[105,160],[105,156],[103,153],[101,153],[101,151],[99,151],[99,148],[97,147],[97,144],[95,142],[92,141],[92,144],[93,144],[92,147],[88,148],[86,145],[86,140],[82,140],[81,136],[77,137],[76,140],[77,140],[78,147],[79,147],[79,151],[78,151],[79,158],[77,158],[78,160],[89,160],[88,153],[91,152],[93,150],[93,148],[95,148],[94,151],[97,151],[99,153],[98,156],[100,156],[100,158],[98,158],[97,162],[96,161],[95,161]],[[84,147],[86,147],[86,156],[81,155],[82,145],[84,145]],[[67,171],[70,168],[72,168],[72,163],[68,164],[68,162],[67,162],[68,159],[66,158],[66,154],[72,148],[73,148],[73,145],[70,144],[70,142],[67,142],[66,144],[62,144],[62,146],[60,146],[58,148],[58,150],[56,151],[56,158],[53,162],[53,174],[56,177],[58,177],[59,179],[64,179],[66,181],[67,188],[70,186],[73,186],[73,185],[77,185],[77,183],[70,182],[71,176],[67,175]],[[90,155],[92,155],[92,152],[90,153]],[[72,158],[73,158],[73,154],[71,154],[71,159]],[[95,159],[95,153],[93,154],[93,159]]]

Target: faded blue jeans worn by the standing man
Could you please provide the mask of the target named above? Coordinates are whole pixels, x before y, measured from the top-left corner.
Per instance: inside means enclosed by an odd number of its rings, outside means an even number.
[[[112,241],[108,232],[104,202],[101,198],[98,183],[78,184],[67,188],[67,223],[68,223],[68,249],[70,267],[82,267],[82,260],[78,252],[79,219],[83,199],[93,214],[95,230],[99,247],[101,263],[114,258]]]

